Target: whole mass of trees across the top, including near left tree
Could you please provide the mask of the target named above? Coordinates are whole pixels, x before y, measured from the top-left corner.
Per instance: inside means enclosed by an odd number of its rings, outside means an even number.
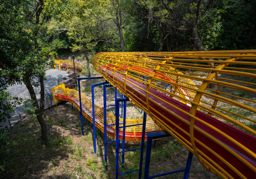
[[[0,122],[21,101],[4,89],[24,83],[48,140],[33,87],[43,99],[53,59],[75,55],[90,77],[99,52],[255,49],[255,11],[256,0],[0,0]]]

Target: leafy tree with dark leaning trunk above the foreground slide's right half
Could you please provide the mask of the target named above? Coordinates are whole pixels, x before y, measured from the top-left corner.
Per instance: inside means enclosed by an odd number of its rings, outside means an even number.
[[[141,0],[138,2],[135,1],[135,3],[148,11],[145,18],[148,18],[149,24],[156,21],[165,26],[166,29],[173,29],[177,32],[189,34],[191,36],[190,40],[194,41],[199,51],[207,50],[206,44],[202,42],[203,38],[205,40],[209,38],[216,39],[216,37],[220,35],[221,26],[218,23],[218,20],[220,20],[218,13],[222,10],[218,10],[218,8],[220,8],[225,1]],[[208,24],[208,27],[202,23]],[[208,28],[204,29],[206,32],[200,30],[200,34],[204,35],[204,37],[200,37],[198,34],[198,29],[202,27]],[[209,44],[211,41],[209,41]]]

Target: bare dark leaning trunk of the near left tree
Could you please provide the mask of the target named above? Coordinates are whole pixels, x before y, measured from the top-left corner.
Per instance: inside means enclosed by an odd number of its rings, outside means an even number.
[[[34,106],[36,106],[37,110],[36,110],[36,118],[41,126],[41,132],[42,132],[42,140],[43,141],[48,141],[48,137],[47,137],[47,127],[46,127],[46,124],[45,124],[45,121],[44,121],[44,118],[41,114],[41,111],[39,109],[39,105],[38,105],[38,102],[37,102],[37,99],[36,99],[36,93],[34,91],[34,88],[33,86],[31,85],[30,81],[26,81],[25,82],[25,85],[29,91],[29,94],[30,94],[30,97],[31,99],[34,100]]]

